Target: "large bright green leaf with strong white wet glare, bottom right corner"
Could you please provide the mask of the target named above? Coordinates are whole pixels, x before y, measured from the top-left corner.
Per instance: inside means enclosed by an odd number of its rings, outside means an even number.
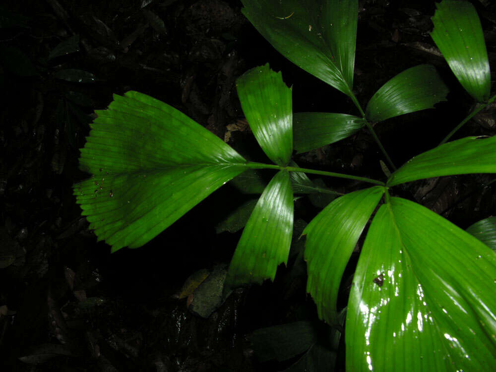
[[[349,371],[494,371],[496,254],[420,204],[372,221],[348,303]]]

